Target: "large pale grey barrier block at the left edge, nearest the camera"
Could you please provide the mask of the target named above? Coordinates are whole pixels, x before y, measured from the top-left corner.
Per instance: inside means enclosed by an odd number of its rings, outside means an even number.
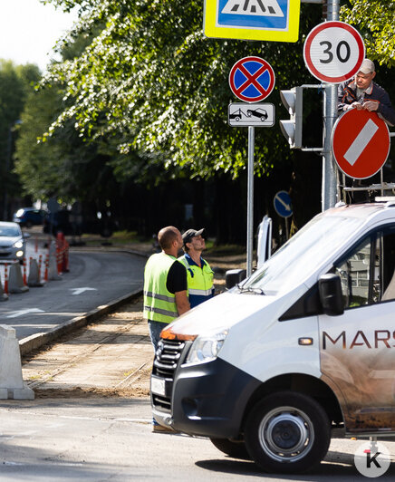
[[[21,352],[15,330],[0,324],[0,399],[34,400],[34,391],[22,378]]]

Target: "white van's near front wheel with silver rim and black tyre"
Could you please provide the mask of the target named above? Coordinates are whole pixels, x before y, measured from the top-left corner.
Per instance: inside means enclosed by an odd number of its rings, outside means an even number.
[[[303,473],[325,457],[331,425],[317,401],[302,393],[280,391],[250,411],[245,441],[251,458],[265,472]]]

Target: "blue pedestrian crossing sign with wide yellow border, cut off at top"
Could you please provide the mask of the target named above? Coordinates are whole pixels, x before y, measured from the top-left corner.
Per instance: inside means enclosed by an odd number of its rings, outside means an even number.
[[[296,42],[301,0],[205,0],[204,34],[214,38]]]

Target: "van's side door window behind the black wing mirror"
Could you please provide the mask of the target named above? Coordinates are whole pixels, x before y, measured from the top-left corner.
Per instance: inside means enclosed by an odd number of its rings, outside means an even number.
[[[395,227],[366,236],[334,265],[346,308],[395,299]]]

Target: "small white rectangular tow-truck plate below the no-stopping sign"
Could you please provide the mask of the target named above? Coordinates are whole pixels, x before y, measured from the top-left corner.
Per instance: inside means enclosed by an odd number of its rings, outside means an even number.
[[[273,104],[232,103],[227,110],[227,122],[233,127],[273,127],[275,106]]]

